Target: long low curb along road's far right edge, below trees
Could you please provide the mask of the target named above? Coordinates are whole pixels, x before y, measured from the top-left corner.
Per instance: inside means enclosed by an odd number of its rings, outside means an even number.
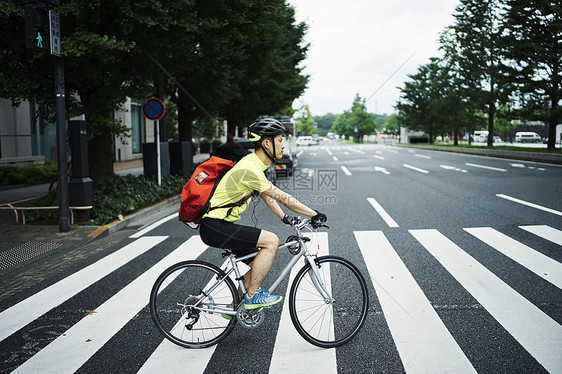
[[[542,162],[545,164],[562,165],[562,154],[543,153],[543,152],[524,152],[524,151],[501,151],[495,149],[471,149],[471,148],[445,148],[431,147],[423,145],[397,144],[398,147],[425,149],[429,151],[464,153],[476,156],[486,156],[495,158],[507,158],[521,161]]]

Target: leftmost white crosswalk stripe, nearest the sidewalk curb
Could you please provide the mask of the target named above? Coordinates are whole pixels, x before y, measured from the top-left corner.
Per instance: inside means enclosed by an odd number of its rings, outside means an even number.
[[[0,313],[0,341],[166,240],[144,236]]]

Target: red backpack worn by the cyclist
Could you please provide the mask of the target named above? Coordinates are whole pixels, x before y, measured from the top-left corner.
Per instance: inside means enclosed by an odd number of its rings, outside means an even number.
[[[205,213],[213,209],[241,206],[248,200],[251,195],[244,197],[237,203],[212,208],[210,206],[211,197],[221,178],[227,171],[232,169],[233,166],[234,163],[230,160],[211,156],[209,160],[195,169],[191,178],[189,178],[185,186],[183,186],[179,215],[180,221],[192,229],[197,229],[201,223],[201,217],[203,217]],[[227,216],[231,211],[232,209],[228,211]]]

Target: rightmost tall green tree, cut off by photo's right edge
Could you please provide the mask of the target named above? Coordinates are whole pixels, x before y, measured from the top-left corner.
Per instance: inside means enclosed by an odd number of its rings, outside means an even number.
[[[523,110],[529,120],[548,124],[548,149],[554,149],[556,125],[562,123],[562,3],[507,0],[503,26],[504,56],[516,67]]]

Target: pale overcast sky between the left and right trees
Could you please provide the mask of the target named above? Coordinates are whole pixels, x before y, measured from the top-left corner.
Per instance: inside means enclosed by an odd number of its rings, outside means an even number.
[[[437,39],[454,23],[458,0],[289,0],[297,21],[309,25],[304,62],[311,75],[293,108],[308,104],[313,115],[343,113],[355,94],[370,97],[410,56],[411,59],[367,101],[371,113],[394,112],[407,74],[441,55]]]

